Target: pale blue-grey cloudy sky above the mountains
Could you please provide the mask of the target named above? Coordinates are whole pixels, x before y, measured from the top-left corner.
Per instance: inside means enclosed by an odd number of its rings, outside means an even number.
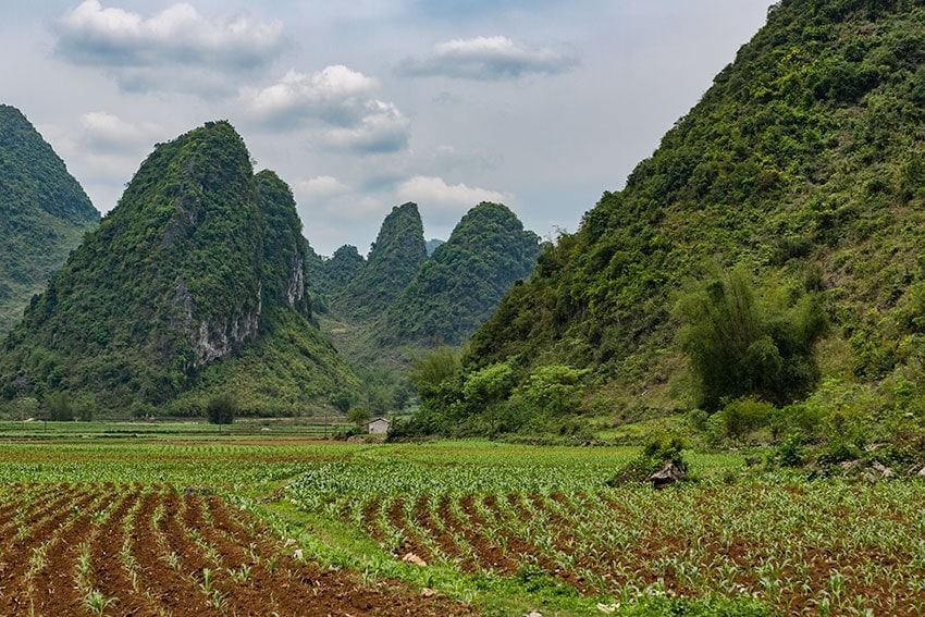
[[[321,255],[394,206],[575,232],[772,0],[0,0],[0,103],[111,210],[155,144],[229,120]]]

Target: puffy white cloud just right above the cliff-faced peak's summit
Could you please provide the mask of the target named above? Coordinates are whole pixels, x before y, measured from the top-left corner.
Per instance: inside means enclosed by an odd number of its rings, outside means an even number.
[[[262,90],[243,90],[242,98],[254,116],[270,125],[292,126],[308,118],[350,124],[362,116],[365,97],[377,85],[374,78],[337,64],[310,75],[289,71]]]

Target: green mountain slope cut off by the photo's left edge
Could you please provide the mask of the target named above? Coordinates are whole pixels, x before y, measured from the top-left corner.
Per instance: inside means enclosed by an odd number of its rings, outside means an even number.
[[[0,334],[98,223],[51,146],[17,109],[0,104]]]

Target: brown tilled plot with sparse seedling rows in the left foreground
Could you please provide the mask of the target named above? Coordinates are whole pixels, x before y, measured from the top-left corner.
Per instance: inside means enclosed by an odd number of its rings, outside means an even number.
[[[0,615],[472,614],[297,559],[215,496],[114,484],[12,491],[22,497],[0,508]]]

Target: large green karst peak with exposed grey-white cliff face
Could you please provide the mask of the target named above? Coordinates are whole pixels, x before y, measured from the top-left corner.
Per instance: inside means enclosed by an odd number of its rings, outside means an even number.
[[[0,394],[136,414],[326,404],[357,383],[309,321],[305,258],[289,188],[254,175],[229,123],[160,144],[7,337]]]

